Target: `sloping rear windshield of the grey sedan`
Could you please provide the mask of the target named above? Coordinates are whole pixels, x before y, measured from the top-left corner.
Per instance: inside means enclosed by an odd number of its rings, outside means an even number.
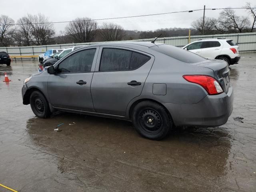
[[[182,48],[178,48],[175,46],[158,45],[150,48],[185,63],[196,63],[206,60],[205,58],[197,54],[194,54],[192,52],[186,51]]]

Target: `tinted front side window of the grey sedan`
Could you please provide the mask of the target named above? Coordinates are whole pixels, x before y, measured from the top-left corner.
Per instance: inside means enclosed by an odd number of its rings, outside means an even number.
[[[58,73],[90,72],[96,49],[72,54],[58,65]]]

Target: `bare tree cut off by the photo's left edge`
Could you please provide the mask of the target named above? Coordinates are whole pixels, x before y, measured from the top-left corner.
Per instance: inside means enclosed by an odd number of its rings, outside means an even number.
[[[14,33],[14,20],[6,15],[0,16],[0,46],[8,46]]]

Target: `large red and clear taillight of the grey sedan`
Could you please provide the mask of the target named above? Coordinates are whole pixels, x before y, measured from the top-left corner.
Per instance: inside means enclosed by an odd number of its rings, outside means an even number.
[[[223,89],[216,79],[208,75],[184,75],[184,79],[188,82],[196,83],[202,86],[209,95],[223,93]]]

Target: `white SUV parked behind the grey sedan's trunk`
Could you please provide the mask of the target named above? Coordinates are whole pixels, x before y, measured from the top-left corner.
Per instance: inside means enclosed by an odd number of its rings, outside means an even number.
[[[204,58],[225,60],[228,65],[240,60],[238,46],[230,39],[204,39],[194,41],[182,49],[198,54]]]

